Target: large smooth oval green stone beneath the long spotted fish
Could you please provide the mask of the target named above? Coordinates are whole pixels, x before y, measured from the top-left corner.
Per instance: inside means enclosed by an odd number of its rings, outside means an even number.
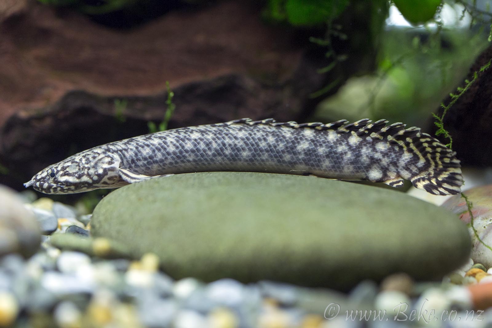
[[[470,254],[456,215],[405,194],[323,178],[205,172],[120,188],[92,233],[154,252],[175,278],[271,279],[346,290],[394,272],[439,279]]]

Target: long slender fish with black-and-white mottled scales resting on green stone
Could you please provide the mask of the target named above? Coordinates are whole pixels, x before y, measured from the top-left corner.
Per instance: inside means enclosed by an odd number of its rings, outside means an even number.
[[[250,171],[369,180],[393,187],[407,179],[435,195],[461,191],[456,153],[419,128],[387,123],[245,118],[155,132],[72,155],[41,170],[25,186],[46,194],[81,193],[176,173]]]

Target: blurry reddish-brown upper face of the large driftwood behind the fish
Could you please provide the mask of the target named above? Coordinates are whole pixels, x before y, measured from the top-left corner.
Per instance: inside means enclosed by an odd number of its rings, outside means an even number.
[[[282,80],[303,52],[292,33],[265,25],[250,1],[176,10],[123,31],[31,1],[0,24],[0,35],[0,122],[73,89],[143,96],[165,90],[166,80],[175,88],[231,72]]]

